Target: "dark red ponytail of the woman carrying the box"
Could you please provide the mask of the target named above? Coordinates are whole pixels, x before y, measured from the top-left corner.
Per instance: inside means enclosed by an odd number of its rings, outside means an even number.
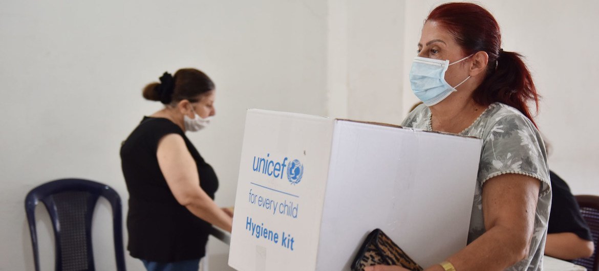
[[[512,106],[536,126],[527,102],[534,101],[538,111],[539,94],[523,58],[519,53],[500,50],[495,63],[489,63],[487,76],[474,90],[473,98],[482,105],[501,102]]]

